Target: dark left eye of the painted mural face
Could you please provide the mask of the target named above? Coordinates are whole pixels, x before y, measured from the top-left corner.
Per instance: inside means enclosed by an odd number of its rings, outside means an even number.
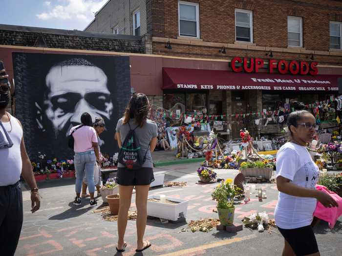
[[[56,111],[57,109],[63,110],[64,114],[73,113],[76,104],[82,98],[79,93],[65,93],[62,95],[57,95],[51,97],[52,109]]]

